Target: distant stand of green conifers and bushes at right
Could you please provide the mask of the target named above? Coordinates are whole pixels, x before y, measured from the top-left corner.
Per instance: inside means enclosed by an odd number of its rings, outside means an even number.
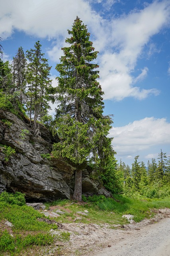
[[[148,170],[143,162],[138,162],[139,156],[135,157],[131,172],[125,174],[127,166],[120,162],[118,169],[124,174],[123,193],[127,196],[146,198],[164,198],[170,193],[170,156],[162,150],[158,154],[158,164],[152,158],[148,161]]]

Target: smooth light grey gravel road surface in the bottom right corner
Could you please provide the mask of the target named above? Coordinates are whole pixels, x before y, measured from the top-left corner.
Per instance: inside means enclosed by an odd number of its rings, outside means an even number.
[[[170,218],[129,230],[119,242],[94,256],[170,256]]]

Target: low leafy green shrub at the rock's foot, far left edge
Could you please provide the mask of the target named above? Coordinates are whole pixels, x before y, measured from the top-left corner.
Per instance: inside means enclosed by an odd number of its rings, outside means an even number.
[[[22,206],[25,205],[25,194],[21,192],[8,193],[4,191],[0,194],[0,202]]]

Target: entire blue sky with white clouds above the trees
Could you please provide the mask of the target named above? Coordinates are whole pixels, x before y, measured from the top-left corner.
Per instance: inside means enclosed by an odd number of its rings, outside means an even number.
[[[37,40],[55,66],[67,29],[79,16],[99,51],[104,114],[113,114],[110,136],[116,159],[147,164],[160,149],[170,155],[170,2],[142,0],[0,0],[4,61]],[[55,108],[55,106],[53,106]],[[53,111],[51,111],[53,114]]]

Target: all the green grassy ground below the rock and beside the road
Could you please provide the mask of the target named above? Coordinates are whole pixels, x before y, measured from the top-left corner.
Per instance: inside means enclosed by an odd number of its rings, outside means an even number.
[[[139,222],[153,216],[154,213],[150,212],[153,208],[170,208],[170,198],[129,198],[123,195],[114,195],[114,197],[116,200],[104,196],[92,196],[83,198],[86,202],[81,203],[66,199],[57,200],[46,203],[46,208],[54,212],[57,209],[65,212],[57,218],[57,222],[74,221],[84,224],[96,223],[101,226],[107,223],[111,227],[113,224],[123,225],[128,222],[122,218],[123,214],[132,214],[134,220]],[[48,217],[25,205],[24,199],[23,194],[19,192],[18,194],[5,192],[0,195],[0,256],[47,255],[47,251],[53,248],[56,241],[69,240],[69,232],[57,232],[53,236],[49,231],[57,230],[57,225],[39,221],[39,218]],[[77,213],[84,210],[88,210],[88,216]],[[5,224],[7,220],[12,223],[12,227]],[[62,255],[61,250],[56,249],[55,255]]]

